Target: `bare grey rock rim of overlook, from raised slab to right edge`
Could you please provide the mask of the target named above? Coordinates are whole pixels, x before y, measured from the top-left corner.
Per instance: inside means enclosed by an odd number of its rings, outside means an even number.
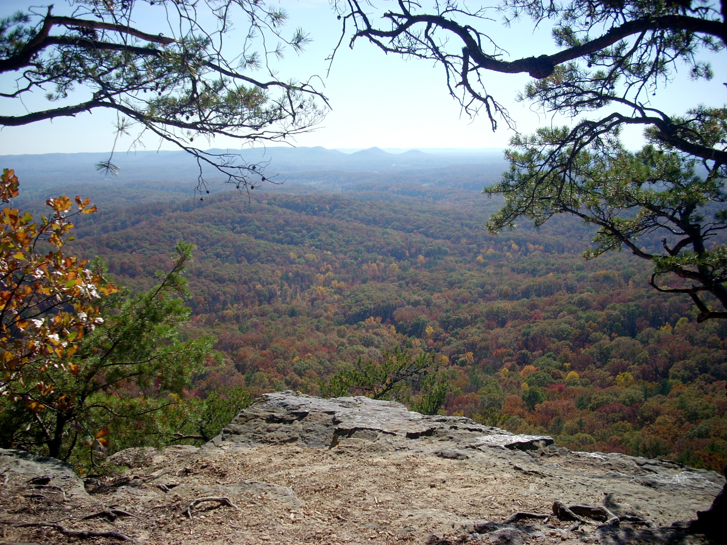
[[[262,395],[201,450],[233,453],[259,445],[323,448],[332,456],[358,459],[431,455],[465,463],[475,471],[514,472],[521,480],[530,480],[530,491],[545,489],[560,496],[553,496],[555,501],[583,504],[594,492],[602,498],[614,494],[632,498],[632,504],[591,504],[619,512],[624,521],[635,521],[632,525],[606,525],[603,520],[590,532],[579,527],[580,533],[567,533],[566,540],[566,533],[555,536],[547,525],[488,522],[479,531],[468,531],[467,538],[432,534],[429,545],[473,540],[514,545],[542,538],[614,545],[706,543],[709,539],[695,536],[689,530],[694,523],[687,521],[708,509],[725,486],[724,477],[716,472],[669,460],[573,452],[555,447],[553,437],[546,435],[515,435],[458,416],[425,416],[392,401],[322,399],[292,391]]]

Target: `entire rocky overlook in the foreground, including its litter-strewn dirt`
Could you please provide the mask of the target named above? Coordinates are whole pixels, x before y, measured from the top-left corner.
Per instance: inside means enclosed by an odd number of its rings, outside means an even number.
[[[124,475],[87,481],[89,501],[63,524],[100,532],[100,509],[126,513],[114,531],[164,545],[704,545],[698,532],[721,522],[725,484],[673,461],[294,392],[263,395],[201,448],[126,449],[111,461]],[[42,520],[39,504],[60,501],[28,498],[18,512],[17,490],[2,492],[6,522]],[[7,528],[12,541],[58,542],[53,528]]]

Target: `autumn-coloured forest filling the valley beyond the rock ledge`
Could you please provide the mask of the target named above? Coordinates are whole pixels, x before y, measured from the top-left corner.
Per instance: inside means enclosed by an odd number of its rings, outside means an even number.
[[[627,251],[584,259],[593,230],[578,219],[492,236],[483,222],[497,199],[364,178],[204,201],[163,187],[63,188],[100,205],[76,222],[68,251],[101,257],[133,292],[172,267],[177,241],[196,246],[183,334],[214,336],[222,357],[194,377],[190,398],[325,394],[358,358],[401,347],[436,355],[448,415],[577,451],[723,469],[723,320],[696,323],[691,300],[650,288],[648,262]],[[142,203],[129,206],[132,194]],[[421,388],[398,400],[413,406]],[[124,395],[155,389],[129,384]]]

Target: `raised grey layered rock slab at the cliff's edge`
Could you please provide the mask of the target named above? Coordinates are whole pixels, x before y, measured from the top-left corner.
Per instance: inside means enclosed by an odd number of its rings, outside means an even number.
[[[222,429],[212,444],[222,448],[257,444],[333,448],[351,438],[382,443],[384,450],[416,451],[422,450],[425,438],[448,440],[460,448],[523,451],[553,444],[553,437],[515,435],[463,416],[426,416],[395,401],[362,396],[323,399],[290,390],[262,395]]]

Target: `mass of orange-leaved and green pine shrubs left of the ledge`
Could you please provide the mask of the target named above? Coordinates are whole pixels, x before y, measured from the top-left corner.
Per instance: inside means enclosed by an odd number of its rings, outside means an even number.
[[[18,180],[6,170],[8,203]],[[49,198],[50,217],[6,207],[1,214],[0,446],[95,466],[109,448],[159,444],[172,435],[214,435],[220,405],[241,393],[188,403],[190,378],[211,357],[213,340],[180,339],[188,320],[183,273],[191,244],[177,243],[168,273],[129,295],[104,278],[104,265],[64,254],[71,217],[95,211],[76,197]],[[194,413],[199,413],[198,416]],[[221,427],[221,424],[220,424]]]

